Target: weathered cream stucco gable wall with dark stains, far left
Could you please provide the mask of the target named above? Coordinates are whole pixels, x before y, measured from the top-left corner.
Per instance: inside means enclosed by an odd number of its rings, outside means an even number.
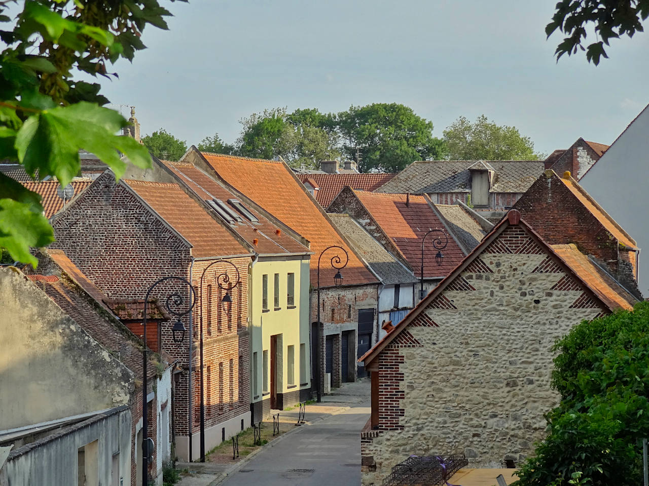
[[[14,268],[0,309],[0,430],[128,404],[129,369]]]

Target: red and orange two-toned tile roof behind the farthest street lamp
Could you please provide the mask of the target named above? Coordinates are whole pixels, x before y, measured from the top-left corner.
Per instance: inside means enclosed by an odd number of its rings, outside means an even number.
[[[367,191],[354,191],[354,194],[410,263],[415,275],[421,277],[421,239],[433,228],[448,233],[428,200],[417,194],[408,196]],[[408,199],[410,202],[406,205]],[[441,250],[444,260],[437,265],[437,250],[431,244],[432,237],[428,237],[428,248],[424,249],[424,277],[445,277],[464,259],[465,253],[449,235],[447,247]]]

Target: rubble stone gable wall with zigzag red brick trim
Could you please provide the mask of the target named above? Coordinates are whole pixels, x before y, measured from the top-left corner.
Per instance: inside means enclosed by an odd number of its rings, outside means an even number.
[[[376,358],[378,430],[361,434],[363,485],[382,484],[411,454],[519,463],[558,403],[554,341],[602,312],[521,226],[508,227]]]

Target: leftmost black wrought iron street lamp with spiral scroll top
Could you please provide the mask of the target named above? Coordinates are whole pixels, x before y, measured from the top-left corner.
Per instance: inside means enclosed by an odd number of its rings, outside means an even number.
[[[182,284],[186,284],[190,288],[190,301],[187,306],[187,310],[180,310],[184,307],[185,299],[180,293],[173,292],[167,296],[165,299],[164,307],[167,309],[169,314],[176,316],[177,321],[174,323],[171,328],[171,334],[173,336],[173,341],[175,343],[182,343],[182,340],[185,337],[185,326],[182,323],[182,316],[186,316],[191,312],[195,303],[196,303],[196,294],[194,288],[191,286],[189,281],[182,277],[162,277],[162,279],[154,282],[147,290],[147,295],[144,297],[144,314],[142,318],[144,332],[143,340],[144,347],[142,351],[142,369],[144,373],[143,385],[142,385],[142,484],[149,484],[149,459],[153,454],[153,440],[149,439],[149,417],[147,416],[147,305],[149,305],[149,297],[153,289],[163,282],[168,281],[177,281]]]

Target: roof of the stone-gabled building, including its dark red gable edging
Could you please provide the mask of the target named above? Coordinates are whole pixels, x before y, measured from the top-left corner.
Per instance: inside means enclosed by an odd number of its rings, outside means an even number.
[[[422,312],[447,288],[447,286],[458,277],[465,269],[484,251],[489,245],[491,245],[501,233],[503,233],[509,226],[519,225],[521,226],[530,237],[545,250],[546,254],[550,259],[559,262],[561,266],[564,266],[567,272],[571,272],[574,277],[578,279],[580,283],[585,286],[590,292],[593,293],[595,297],[600,299],[602,304],[604,304],[609,310],[615,311],[618,308],[630,308],[633,306],[637,300],[626,292],[621,286],[619,286],[615,281],[612,281],[606,278],[606,274],[602,275],[598,272],[596,268],[592,268],[589,264],[584,261],[587,257],[579,257],[575,251],[578,252],[578,249],[574,245],[549,245],[543,238],[541,238],[533,229],[530,227],[524,220],[520,219],[519,211],[511,209],[505,218],[502,218],[500,223],[494,227],[493,231],[487,235],[480,245],[478,245],[467,257],[462,260],[462,262],[454,268],[452,272],[448,274],[445,279],[443,279],[437,286],[428,294],[422,301],[419,302],[411,310],[406,317],[398,323],[395,328],[386,334],[378,343],[374,345],[372,349],[363,354],[358,358],[359,362],[364,362],[365,366],[371,364],[373,360],[378,356],[379,353],[385,347],[395,340],[400,332],[405,329],[410,323],[420,316]],[[556,251],[555,247],[558,247],[559,251]],[[566,257],[566,259],[564,259]]]

